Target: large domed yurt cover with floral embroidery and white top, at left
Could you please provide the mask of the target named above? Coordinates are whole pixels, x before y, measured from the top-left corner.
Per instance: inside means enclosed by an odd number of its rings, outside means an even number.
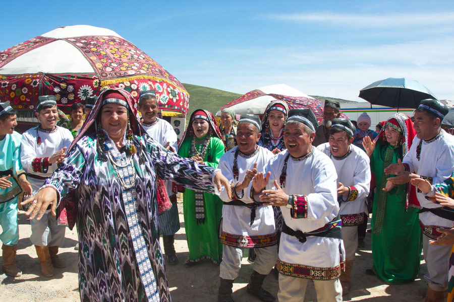
[[[0,52],[0,99],[33,112],[40,95],[54,95],[68,112],[102,89],[136,99],[154,89],[163,115],[186,114],[189,94],[172,74],[114,31],[88,25],[54,29]]]

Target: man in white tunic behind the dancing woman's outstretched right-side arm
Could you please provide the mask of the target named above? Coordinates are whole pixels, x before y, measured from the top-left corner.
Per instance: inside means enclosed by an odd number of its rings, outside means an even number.
[[[178,151],[178,138],[175,133],[174,127],[167,121],[157,117],[158,102],[156,99],[156,92],[154,90],[146,90],[140,92],[139,107],[142,114],[143,122],[142,127],[147,131],[151,138],[159,142],[167,150],[174,153]],[[164,253],[167,257],[167,263],[170,265],[177,265],[178,258],[175,252],[175,233],[180,230],[180,218],[178,216],[177,195],[172,192],[172,181],[159,182],[165,183],[165,193],[172,201],[170,208],[163,209],[159,212],[159,234],[162,235],[162,242],[164,244]],[[158,186],[158,194],[164,193]],[[159,197],[158,197],[159,198]],[[164,198],[167,198],[166,196]],[[160,199],[160,198],[159,198]]]

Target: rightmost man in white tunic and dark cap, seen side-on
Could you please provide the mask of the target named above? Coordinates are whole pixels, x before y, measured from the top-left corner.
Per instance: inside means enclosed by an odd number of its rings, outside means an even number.
[[[408,183],[413,178],[423,178],[431,184],[442,183],[454,171],[454,136],[441,129],[441,120],[448,113],[446,105],[437,100],[421,101],[414,114],[416,137],[413,139],[409,152],[403,162],[385,168],[386,174],[398,175],[388,178],[393,184]],[[454,227],[452,211],[425,198],[417,190],[416,196],[422,207],[419,214],[423,236],[424,260],[427,274],[424,278],[429,282],[426,301],[442,299],[447,289],[448,261],[450,246],[429,245],[429,240],[436,240],[441,235],[437,229]]]

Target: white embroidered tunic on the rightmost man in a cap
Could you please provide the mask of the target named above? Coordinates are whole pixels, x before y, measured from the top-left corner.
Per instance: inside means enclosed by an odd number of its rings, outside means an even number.
[[[443,129],[441,129],[440,134],[440,137],[433,141],[424,140],[422,142],[419,160],[417,149],[421,139],[415,136],[409,152],[402,161],[404,164],[408,164],[410,172],[415,172],[422,178],[428,178],[432,184],[442,183],[454,171],[454,136],[446,133]],[[419,190],[416,190],[416,196],[422,207],[441,207],[439,204],[427,200]],[[420,213],[419,220],[425,226],[445,226],[448,228],[454,226],[454,221],[441,218],[431,212]]]

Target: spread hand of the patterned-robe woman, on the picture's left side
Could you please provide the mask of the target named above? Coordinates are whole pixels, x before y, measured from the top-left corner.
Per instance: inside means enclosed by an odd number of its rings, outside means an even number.
[[[30,208],[25,213],[25,215],[30,216],[30,220],[32,220],[36,215],[36,220],[41,219],[44,212],[47,210],[47,207],[50,206],[50,212],[52,215],[56,216],[56,203],[57,203],[57,193],[54,188],[52,187],[45,187],[38,191],[34,196],[31,196],[25,201],[22,201],[21,204],[25,205],[27,203],[32,203]]]

